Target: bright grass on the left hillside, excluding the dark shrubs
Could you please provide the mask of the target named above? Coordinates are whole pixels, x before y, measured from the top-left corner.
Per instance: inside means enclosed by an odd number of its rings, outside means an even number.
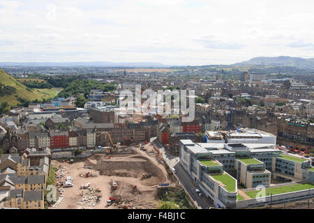
[[[56,89],[32,89],[31,91],[27,91],[27,87],[17,82],[14,77],[11,77],[6,72],[0,69],[0,83],[5,84],[6,86],[13,86],[16,89],[16,92],[12,95],[6,95],[0,98],[1,102],[8,102],[10,106],[15,106],[18,103],[17,97],[24,98],[26,100],[42,100],[43,98],[53,98],[56,95]],[[39,90],[39,91],[37,91]],[[49,91],[48,91],[49,90]],[[40,92],[41,91],[41,92]],[[47,91],[47,92],[45,92]],[[45,93],[43,93],[45,92]]]

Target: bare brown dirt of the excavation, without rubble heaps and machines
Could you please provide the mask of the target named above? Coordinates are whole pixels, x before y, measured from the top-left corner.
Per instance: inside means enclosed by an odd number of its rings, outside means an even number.
[[[148,155],[148,153],[151,151],[144,152],[135,148],[133,154],[110,155],[110,159],[104,155],[93,155],[84,161],[73,164],[53,160],[52,164],[55,167],[66,167],[66,176],[73,177],[73,187],[63,187],[63,199],[57,208],[121,208],[116,203],[107,207],[109,197],[126,203],[128,208],[156,208],[158,206],[158,201],[156,201],[158,184],[171,183],[171,181],[167,178],[167,171],[163,164],[159,164],[154,155]],[[85,169],[84,165],[92,168]],[[92,176],[87,178],[82,176],[88,172]],[[142,179],[142,174],[146,173],[151,173],[151,178]],[[116,181],[117,190],[111,190],[112,180]],[[101,197],[98,203],[83,202],[83,197],[87,199],[95,195],[94,192],[87,189],[80,189],[81,185],[87,183],[90,183],[93,190],[96,188],[100,190],[98,194]],[[136,192],[132,190],[132,185],[137,185]],[[80,197],[79,195],[82,193],[83,196]]]

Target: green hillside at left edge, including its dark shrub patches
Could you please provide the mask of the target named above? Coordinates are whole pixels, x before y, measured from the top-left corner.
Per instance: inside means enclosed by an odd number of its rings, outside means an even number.
[[[10,88],[13,87],[16,90]],[[6,89],[6,91],[5,91]],[[0,103],[8,102],[8,105],[15,106],[19,101],[17,98],[24,100],[43,100],[43,98],[54,98],[57,95],[57,89],[29,89],[8,73],[0,69]]]

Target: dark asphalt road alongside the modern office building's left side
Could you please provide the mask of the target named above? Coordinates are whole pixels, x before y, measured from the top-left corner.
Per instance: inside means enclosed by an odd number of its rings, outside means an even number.
[[[184,189],[186,189],[193,201],[196,201],[198,206],[202,209],[214,207],[214,202],[211,199],[206,197],[204,194],[202,197],[199,197],[196,194],[195,190],[200,188],[197,186],[195,180],[192,180],[190,176],[188,176],[188,173],[186,173],[186,171],[181,167],[181,164],[176,164],[174,169],[176,169],[176,176],[179,178],[180,183],[184,186]]]

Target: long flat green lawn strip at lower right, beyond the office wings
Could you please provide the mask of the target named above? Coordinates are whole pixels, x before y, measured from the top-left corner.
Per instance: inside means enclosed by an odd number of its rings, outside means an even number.
[[[309,183],[299,183],[299,184],[295,184],[295,185],[287,185],[287,186],[283,186],[283,187],[269,187],[266,188],[266,196],[271,195],[271,193],[273,195],[275,194],[284,194],[284,193],[288,193],[288,192],[294,192],[294,191],[299,191],[299,190],[308,190],[309,188],[314,188],[314,185],[309,184]],[[249,197],[251,198],[255,198],[256,194],[260,192],[260,190],[253,190],[253,191],[249,191],[246,192],[246,194],[248,194]],[[269,193],[269,195],[268,195]]]

